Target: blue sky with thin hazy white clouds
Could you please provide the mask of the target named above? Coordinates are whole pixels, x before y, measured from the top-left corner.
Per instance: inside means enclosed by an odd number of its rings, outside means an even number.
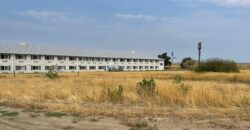
[[[0,0],[0,43],[250,62],[250,0]]]

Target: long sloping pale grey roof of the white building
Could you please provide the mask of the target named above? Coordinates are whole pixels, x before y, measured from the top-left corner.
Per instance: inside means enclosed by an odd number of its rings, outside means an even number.
[[[1,44],[0,53],[30,54],[30,55],[56,55],[56,56],[83,56],[83,57],[107,57],[107,58],[134,58],[134,59],[158,59],[145,57],[136,53],[104,52],[86,49],[56,48],[48,46],[21,44]]]

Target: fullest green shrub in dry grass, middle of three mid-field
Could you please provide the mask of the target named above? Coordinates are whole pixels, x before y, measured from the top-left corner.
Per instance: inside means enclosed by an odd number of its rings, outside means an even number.
[[[154,79],[143,79],[137,83],[137,92],[140,95],[155,96],[158,95]]]

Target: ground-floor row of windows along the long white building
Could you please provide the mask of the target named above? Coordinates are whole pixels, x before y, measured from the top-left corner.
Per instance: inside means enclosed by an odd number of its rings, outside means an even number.
[[[45,66],[45,70],[49,70],[52,66]],[[132,70],[132,69],[159,69],[158,66],[118,66],[117,68],[121,69],[126,69],[127,70]],[[0,71],[10,71],[10,66],[0,66]],[[77,70],[77,66],[69,66],[69,70]],[[106,67],[106,66],[79,66],[80,70],[108,70],[113,67]],[[59,71],[64,71],[66,70],[66,66],[56,66],[56,69]],[[16,71],[26,71],[27,67],[26,66],[15,66]],[[31,66],[32,71],[40,71],[41,66]]]

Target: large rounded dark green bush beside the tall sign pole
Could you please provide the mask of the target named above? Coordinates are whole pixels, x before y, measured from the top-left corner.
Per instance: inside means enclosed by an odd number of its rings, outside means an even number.
[[[237,64],[232,60],[218,58],[208,59],[201,62],[196,68],[196,72],[239,72]]]

